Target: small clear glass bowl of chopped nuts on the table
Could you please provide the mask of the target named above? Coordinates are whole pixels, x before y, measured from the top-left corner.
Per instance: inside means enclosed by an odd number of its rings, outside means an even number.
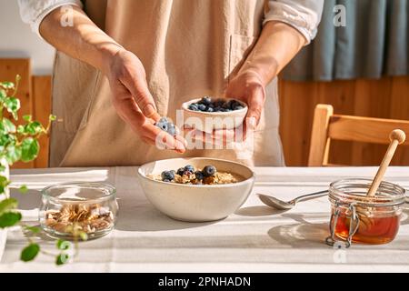
[[[48,236],[93,239],[114,229],[118,204],[114,186],[95,182],[63,183],[42,190],[40,226]]]

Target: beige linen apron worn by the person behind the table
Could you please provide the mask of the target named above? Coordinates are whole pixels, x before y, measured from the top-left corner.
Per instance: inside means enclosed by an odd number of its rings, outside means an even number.
[[[105,5],[102,5],[105,3]],[[229,79],[260,35],[264,0],[87,0],[85,12],[145,65],[160,115],[175,120],[183,102],[224,95]],[[276,80],[267,87],[249,166],[283,166]],[[179,157],[147,146],[111,105],[108,81],[95,68],[55,58],[51,166],[133,166]],[[240,149],[239,151],[243,151]],[[183,156],[237,160],[236,151],[190,150]]]

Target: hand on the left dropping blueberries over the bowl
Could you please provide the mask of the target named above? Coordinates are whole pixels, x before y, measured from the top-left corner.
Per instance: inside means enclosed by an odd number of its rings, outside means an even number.
[[[145,68],[131,52],[120,49],[107,60],[105,75],[113,95],[112,103],[118,115],[149,145],[185,152],[185,139],[172,136],[157,126],[160,115],[154,97],[146,83]]]

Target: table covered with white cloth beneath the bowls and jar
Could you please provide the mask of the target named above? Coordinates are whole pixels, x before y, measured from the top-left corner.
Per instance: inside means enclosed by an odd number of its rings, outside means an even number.
[[[120,207],[115,230],[108,236],[81,243],[75,262],[57,267],[49,256],[32,263],[19,261],[25,240],[10,230],[0,272],[377,272],[409,271],[409,208],[394,242],[384,246],[335,249],[324,244],[328,236],[327,197],[309,200],[281,212],[259,201],[256,193],[294,196],[327,188],[345,177],[374,176],[374,167],[258,167],[253,193],[234,215],[214,223],[178,222],[162,215],[146,200],[136,180],[137,167],[51,168],[15,170],[24,219],[35,221],[39,190],[68,181],[104,181],[117,188]],[[409,167],[391,167],[386,180],[409,189]],[[41,245],[54,250],[44,237]]]

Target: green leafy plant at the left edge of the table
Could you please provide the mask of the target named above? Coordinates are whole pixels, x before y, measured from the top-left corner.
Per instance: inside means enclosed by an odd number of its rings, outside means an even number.
[[[19,118],[20,100],[16,97],[20,76],[16,76],[15,83],[0,82],[0,260],[5,248],[6,229],[20,226],[27,238],[27,246],[21,252],[21,260],[31,261],[41,251],[40,246],[31,238],[41,231],[36,226],[26,226],[22,222],[22,215],[17,210],[18,201],[9,196],[10,175],[9,166],[17,161],[30,162],[35,160],[40,150],[38,138],[49,132],[55,115],[49,116],[48,125],[42,125],[33,120],[31,115],[22,116],[23,123],[17,124]],[[25,193],[26,186],[19,191]],[[59,253],[56,254],[57,265],[64,264],[68,256],[64,250],[69,247],[65,241],[57,241]]]

